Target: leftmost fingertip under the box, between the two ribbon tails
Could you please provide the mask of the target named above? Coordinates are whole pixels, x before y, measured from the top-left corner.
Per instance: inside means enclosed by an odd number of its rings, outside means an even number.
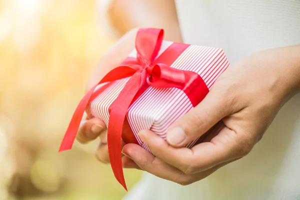
[[[99,118],[82,120],[76,135],[80,143],[87,143],[100,135],[105,130],[105,123]]]

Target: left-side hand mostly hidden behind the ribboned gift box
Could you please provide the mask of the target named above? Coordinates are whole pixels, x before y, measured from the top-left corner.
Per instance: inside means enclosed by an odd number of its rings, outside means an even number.
[[[98,66],[91,75],[87,84],[87,89],[91,88],[112,68],[116,67],[125,59],[125,57],[134,49],[134,40],[137,29],[128,31],[122,36],[112,48],[104,54],[99,60]],[[99,146],[96,150],[96,157],[104,163],[109,162],[107,137],[105,123],[99,118],[88,119],[86,114],[83,115],[81,120],[76,139],[80,143],[87,143],[95,138],[100,138]],[[122,144],[124,145],[124,143]],[[123,165],[127,168],[130,166],[136,167],[136,164],[126,159]]]

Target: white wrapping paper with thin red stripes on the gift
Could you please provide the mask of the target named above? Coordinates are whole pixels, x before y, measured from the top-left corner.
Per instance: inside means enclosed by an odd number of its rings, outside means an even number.
[[[157,57],[172,43],[163,41]],[[133,50],[128,56],[136,57],[136,50]],[[217,77],[229,66],[229,62],[221,48],[189,45],[170,66],[198,73],[210,89]],[[129,77],[109,83],[107,88],[87,105],[88,117],[98,117],[107,126],[108,107],[128,79]],[[105,84],[107,83],[99,84],[94,92]],[[137,133],[142,129],[149,129],[165,139],[167,128],[191,108],[192,104],[182,90],[149,87],[131,104],[127,112],[127,119],[138,143],[150,151]],[[191,147],[196,140],[188,143],[186,147]]]

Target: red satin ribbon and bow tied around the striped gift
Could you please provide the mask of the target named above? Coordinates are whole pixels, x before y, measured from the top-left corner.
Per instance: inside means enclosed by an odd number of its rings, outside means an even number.
[[[125,189],[126,184],[121,162],[121,137],[130,104],[149,86],[179,88],[188,96],[193,106],[197,105],[208,93],[206,84],[197,73],[169,66],[187,48],[188,44],[173,43],[155,59],[162,38],[162,29],[139,29],[135,39],[137,58],[128,57],[122,62],[124,65],[112,69],[98,82],[100,84],[131,76],[109,107],[110,115],[107,127],[107,145],[111,168],[115,178]],[[72,147],[84,109],[92,100],[91,95],[98,84],[93,86],[79,102],[59,151]]]

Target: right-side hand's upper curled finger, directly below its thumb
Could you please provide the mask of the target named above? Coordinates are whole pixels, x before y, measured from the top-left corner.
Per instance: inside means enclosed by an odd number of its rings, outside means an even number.
[[[141,140],[147,144],[151,152],[159,159],[180,169],[186,174],[194,174],[212,168],[220,163],[243,156],[242,144],[237,143],[238,134],[222,128],[210,141],[193,146],[191,149],[175,148],[160,136],[149,130],[139,133]]]

